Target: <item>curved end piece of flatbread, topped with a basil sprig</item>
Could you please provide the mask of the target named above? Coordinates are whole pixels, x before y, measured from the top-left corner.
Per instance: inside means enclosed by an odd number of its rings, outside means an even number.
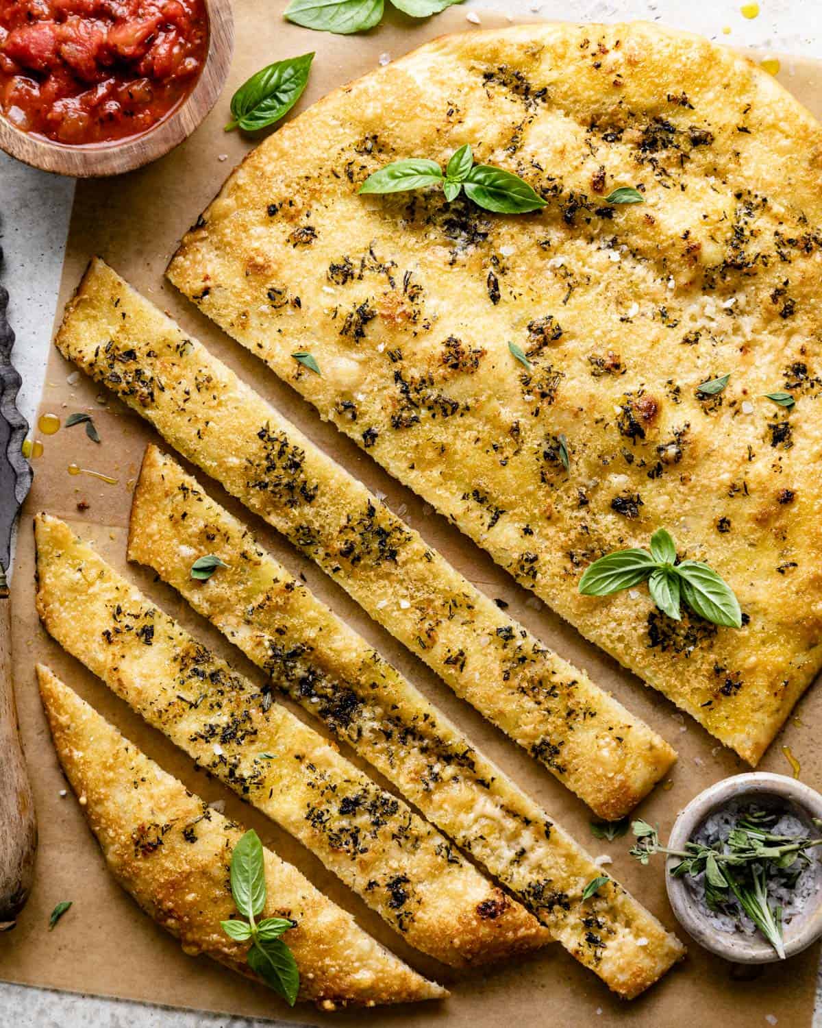
[[[192,796],[42,664],[37,678],[61,766],[117,882],[187,954],[206,953],[259,981],[246,963],[247,947],[220,927],[235,913],[226,883],[242,830]],[[448,995],[270,849],[265,883],[262,916],[297,922],[286,942],[300,968],[299,999],[333,1011]]]

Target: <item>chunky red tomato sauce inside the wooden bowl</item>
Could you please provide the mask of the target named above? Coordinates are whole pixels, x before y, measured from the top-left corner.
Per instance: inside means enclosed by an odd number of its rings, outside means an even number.
[[[0,111],[71,145],[137,136],[193,88],[203,0],[0,0]]]

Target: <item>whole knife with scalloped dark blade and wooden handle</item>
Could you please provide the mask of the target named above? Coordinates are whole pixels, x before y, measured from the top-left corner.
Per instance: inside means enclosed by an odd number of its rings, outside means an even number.
[[[0,250],[2,261],[2,250]],[[11,365],[14,333],[6,318],[8,293],[0,286],[0,931],[16,924],[29,897],[37,852],[34,798],[23,754],[11,676],[11,535],[32,484],[23,455],[29,430],[16,407],[22,380]]]

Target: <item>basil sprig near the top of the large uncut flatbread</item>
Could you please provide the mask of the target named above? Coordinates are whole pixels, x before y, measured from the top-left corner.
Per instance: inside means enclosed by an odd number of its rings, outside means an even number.
[[[361,193],[405,192],[441,185],[445,198],[456,199],[461,189],[469,199],[496,214],[525,214],[538,211],[546,200],[518,175],[492,164],[475,164],[471,144],[455,150],[443,174],[435,160],[410,157],[395,160],[365,180]]]

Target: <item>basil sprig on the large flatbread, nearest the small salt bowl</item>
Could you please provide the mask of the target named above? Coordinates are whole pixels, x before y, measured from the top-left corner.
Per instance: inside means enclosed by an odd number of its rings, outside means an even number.
[[[699,560],[679,564],[675,560],[676,544],[671,534],[658,528],[650,537],[650,553],[642,549],[616,550],[595,560],[580,579],[580,592],[607,596],[646,581],[650,598],[674,621],[681,620],[680,601],[684,600],[706,621],[741,628],[742,611],[731,586]]]

